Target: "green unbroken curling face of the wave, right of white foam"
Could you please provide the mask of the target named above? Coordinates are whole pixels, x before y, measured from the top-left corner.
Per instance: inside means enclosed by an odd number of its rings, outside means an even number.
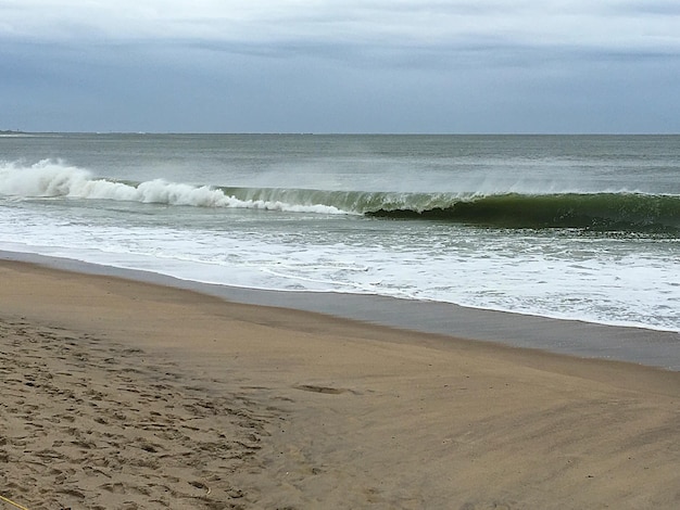
[[[223,188],[241,201],[324,205],[376,218],[498,228],[580,228],[680,234],[680,196],[643,193],[475,194]]]

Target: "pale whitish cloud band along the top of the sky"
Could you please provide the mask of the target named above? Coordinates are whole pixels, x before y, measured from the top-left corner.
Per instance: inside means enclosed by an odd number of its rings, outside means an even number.
[[[3,38],[451,47],[468,40],[678,51],[675,1],[46,1],[0,4]]]

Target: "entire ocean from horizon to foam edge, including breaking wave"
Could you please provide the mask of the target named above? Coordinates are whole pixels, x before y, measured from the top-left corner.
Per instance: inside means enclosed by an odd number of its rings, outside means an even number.
[[[3,133],[0,250],[680,332],[680,136]]]

